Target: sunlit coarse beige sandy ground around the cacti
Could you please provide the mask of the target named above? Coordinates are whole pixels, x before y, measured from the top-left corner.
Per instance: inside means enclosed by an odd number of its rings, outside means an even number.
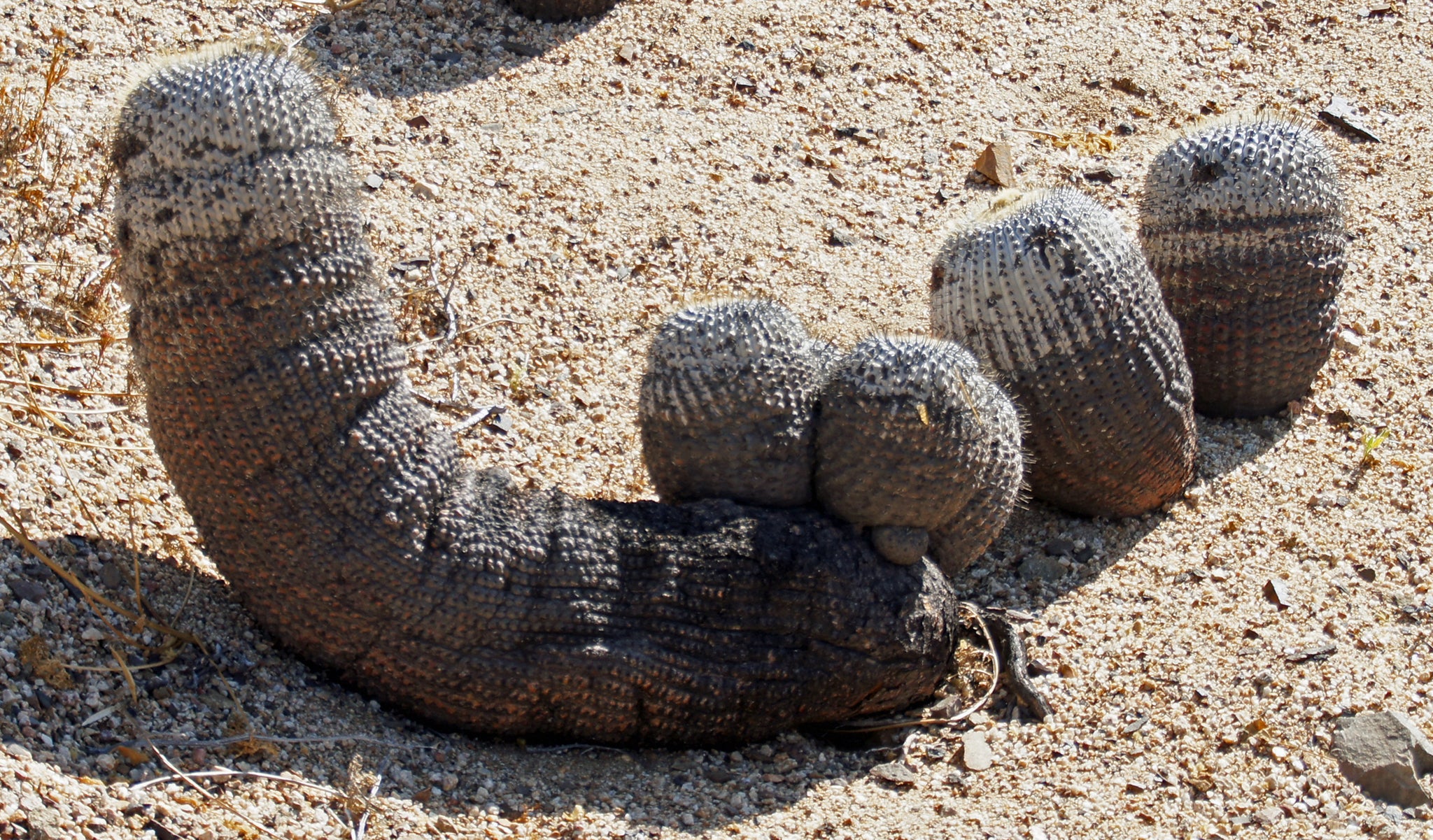
[[[49,128],[0,169],[4,516],[116,605],[133,608],[138,569],[153,615],[208,649],[145,668],[172,657],[163,632],[102,611],[107,626],[0,545],[0,837],[1433,836],[1433,813],[1363,798],[1328,754],[1357,711],[1433,727],[1433,26],[1423,1],[1357,6],[623,0],[552,26],[487,0],[0,1],[0,105],[33,106],[56,49],[69,67]],[[107,119],[155,57],[255,36],[311,50],[331,80],[420,390],[454,421],[503,409],[506,430],[479,423],[463,446],[622,499],[651,495],[633,420],[663,314],[761,294],[844,347],[926,331],[941,231],[993,195],[970,175],[987,142],[1012,143],[1022,185],[1075,183],[1131,229],[1145,163],[1201,115],[1313,116],[1341,96],[1383,142],[1318,128],[1353,241],[1310,397],[1201,419],[1198,480],[1166,512],[1030,505],[957,582],[1017,611],[1052,720],[1002,694],[883,743],[494,743],[277,648],[122,396]],[[1029,575],[1050,555],[1068,555],[1052,579]],[[993,764],[972,770],[982,737]],[[871,774],[888,761],[914,783]],[[145,786],[218,768],[282,778]]]

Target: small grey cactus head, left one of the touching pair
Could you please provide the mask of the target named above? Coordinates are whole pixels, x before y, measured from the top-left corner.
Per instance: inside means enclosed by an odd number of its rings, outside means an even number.
[[[682,310],[652,340],[638,423],[663,502],[811,502],[815,401],[834,350],[771,301]]]

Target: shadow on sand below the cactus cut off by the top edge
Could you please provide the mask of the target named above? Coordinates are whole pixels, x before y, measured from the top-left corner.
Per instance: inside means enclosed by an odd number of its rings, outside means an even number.
[[[342,87],[407,99],[540,59],[598,20],[530,20],[496,0],[367,0],[315,17],[301,44]]]

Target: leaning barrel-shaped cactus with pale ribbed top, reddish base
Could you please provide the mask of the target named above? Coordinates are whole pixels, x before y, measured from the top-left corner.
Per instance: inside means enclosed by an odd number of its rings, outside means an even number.
[[[1030,492],[1132,516],[1194,476],[1189,366],[1134,239],[1075,189],[1007,192],[954,231],[930,281],[936,335],[982,357],[1026,424]]]

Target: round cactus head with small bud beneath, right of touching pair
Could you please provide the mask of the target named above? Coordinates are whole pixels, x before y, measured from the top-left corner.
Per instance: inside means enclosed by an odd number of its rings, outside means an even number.
[[[1019,493],[1019,439],[1015,406],[970,351],[874,335],[841,358],[821,394],[817,500],[876,528],[877,548],[897,562],[919,540],[893,529],[959,522],[984,550]],[[936,559],[954,571],[970,556]]]

